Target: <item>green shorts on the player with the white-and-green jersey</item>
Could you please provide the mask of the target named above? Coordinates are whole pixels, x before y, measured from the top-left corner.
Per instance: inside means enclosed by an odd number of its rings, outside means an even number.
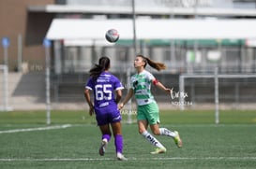
[[[157,124],[159,120],[159,109],[156,102],[149,105],[137,107],[137,120],[147,120],[149,124]]]

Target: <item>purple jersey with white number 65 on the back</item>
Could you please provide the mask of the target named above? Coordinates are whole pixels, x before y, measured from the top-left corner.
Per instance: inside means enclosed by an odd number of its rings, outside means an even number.
[[[90,77],[85,88],[94,92],[95,108],[109,106],[115,109],[114,91],[124,89],[119,79],[109,72],[102,72],[96,80]]]

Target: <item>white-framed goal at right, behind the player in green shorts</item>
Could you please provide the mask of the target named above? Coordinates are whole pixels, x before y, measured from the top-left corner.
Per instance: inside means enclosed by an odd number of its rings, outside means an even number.
[[[218,120],[218,105],[221,103],[233,104],[239,109],[242,103],[254,103],[255,101],[255,74],[183,74],[179,77],[179,92],[191,96],[190,102],[203,101],[215,104],[215,118]],[[189,87],[188,87],[189,86]],[[196,98],[196,99],[195,99]],[[186,97],[179,97],[180,109],[185,109]]]

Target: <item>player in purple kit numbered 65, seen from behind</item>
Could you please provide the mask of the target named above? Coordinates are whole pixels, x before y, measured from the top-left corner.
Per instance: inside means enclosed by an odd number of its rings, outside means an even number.
[[[98,149],[99,155],[103,156],[105,149],[110,142],[113,130],[116,157],[120,161],[127,160],[123,155],[123,136],[121,128],[121,113],[117,104],[122,97],[123,85],[117,77],[110,72],[110,59],[101,57],[90,70],[90,77],[85,85],[84,97],[88,104],[89,114],[96,114],[99,129],[102,134],[102,142]],[[90,92],[94,92],[94,104]]]

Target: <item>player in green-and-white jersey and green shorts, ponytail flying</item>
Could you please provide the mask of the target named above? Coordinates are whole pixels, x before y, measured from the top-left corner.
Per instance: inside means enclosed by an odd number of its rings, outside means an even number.
[[[147,63],[158,71],[166,68],[164,63],[156,63],[143,55],[137,55],[134,60],[134,67],[137,73],[130,78],[130,89],[128,94],[118,107],[119,109],[123,108],[128,103],[128,100],[135,95],[139,133],[156,147],[156,150],[151,152],[151,154],[158,154],[166,152],[166,148],[154,135],[147,131],[148,125],[153,134],[172,137],[178,148],[182,147],[182,140],[177,131],[159,127],[159,109],[158,104],[151,93],[151,84],[157,86],[160,90],[168,94],[170,94],[171,89],[166,88],[156,77],[145,70]]]

